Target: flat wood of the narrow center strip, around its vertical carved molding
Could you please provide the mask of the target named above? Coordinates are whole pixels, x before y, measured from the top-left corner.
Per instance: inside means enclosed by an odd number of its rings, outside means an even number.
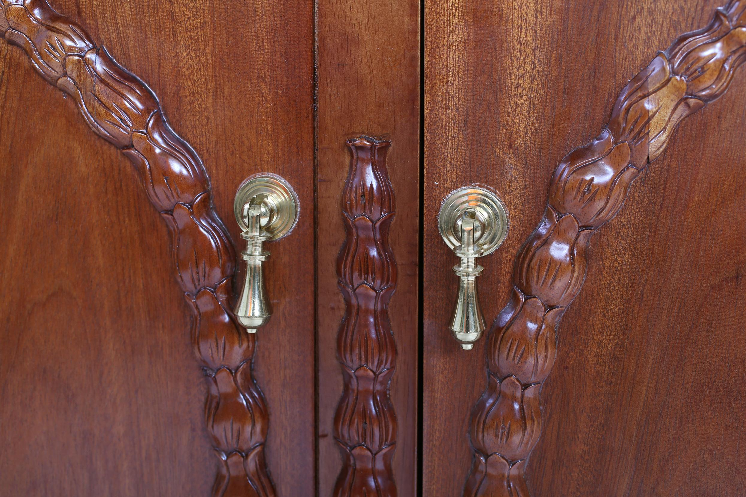
[[[350,165],[347,142],[374,136],[391,142],[386,168],[396,193],[396,218],[389,232],[397,267],[397,289],[388,309],[397,351],[390,388],[397,420],[396,433],[389,434],[396,440],[392,474],[398,495],[416,496],[419,1],[319,0],[317,4],[318,492],[333,495],[345,465],[334,436],[334,418],[344,388],[337,335],[345,302],[337,285],[336,261],[345,241],[340,209]]]

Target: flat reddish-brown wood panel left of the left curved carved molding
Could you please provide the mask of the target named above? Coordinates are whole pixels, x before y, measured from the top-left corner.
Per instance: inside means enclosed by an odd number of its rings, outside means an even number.
[[[163,221],[72,98],[5,42],[0,64],[0,274],[23,281],[0,295],[0,495],[210,495],[204,379]]]

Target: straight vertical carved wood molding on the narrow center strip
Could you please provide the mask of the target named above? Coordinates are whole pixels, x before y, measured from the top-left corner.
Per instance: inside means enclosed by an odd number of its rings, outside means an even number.
[[[342,197],[347,239],[336,266],[346,304],[337,338],[344,390],[334,417],[344,462],[334,496],[395,497],[396,416],[389,384],[396,344],[388,313],[396,286],[389,247],[395,210],[386,171],[391,143],[366,136],[347,143],[352,152]]]

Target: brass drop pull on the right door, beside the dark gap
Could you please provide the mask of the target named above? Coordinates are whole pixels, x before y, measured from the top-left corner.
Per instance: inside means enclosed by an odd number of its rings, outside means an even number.
[[[443,240],[460,257],[454,266],[459,276],[459,293],[448,326],[464,350],[474,348],[485,324],[477,291],[477,276],[484,268],[477,257],[497,250],[507,235],[505,206],[491,191],[466,187],[452,191],[443,201],[438,215]]]

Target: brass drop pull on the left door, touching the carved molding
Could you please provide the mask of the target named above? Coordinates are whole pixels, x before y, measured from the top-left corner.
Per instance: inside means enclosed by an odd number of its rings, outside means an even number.
[[[278,240],[292,229],[298,216],[298,202],[289,184],[274,175],[251,177],[239,186],[233,212],[241,227],[246,248],[246,276],[236,308],[236,319],[249,333],[266,325],[272,316],[267,298],[263,262],[269,257],[265,241]]]

